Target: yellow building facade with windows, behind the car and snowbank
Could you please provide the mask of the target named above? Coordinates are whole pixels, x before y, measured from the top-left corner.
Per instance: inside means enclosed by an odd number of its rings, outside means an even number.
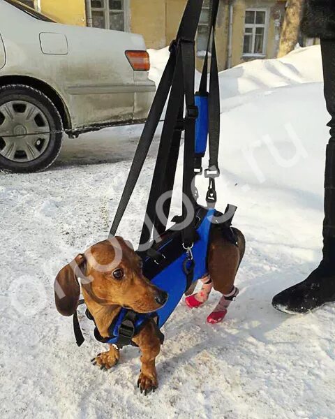
[[[174,38],[186,0],[24,0],[57,22],[142,34],[148,48]],[[286,0],[221,0],[216,42],[220,70],[250,59],[274,58]],[[204,0],[197,36],[197,66],[207,43],[209,0]]]

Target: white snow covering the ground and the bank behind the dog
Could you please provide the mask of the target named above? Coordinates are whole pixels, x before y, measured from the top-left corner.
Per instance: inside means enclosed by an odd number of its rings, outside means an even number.
[[[158,80],[166,52],[156,57]],[[0,174],[1,418],[335,418],[335,306],[295,317],[271,307],[320,260],[329,136],[320,49],[238,66],[221,84],[218,208],[239,206],[241,294],[216,326],[205,320],[217,294],[196,311],[179,304],[164,328],[154,395],[135,388],[136,348],[107,374],[90,364],[103,345],[83,318],[87,342],[77,348],[52,289],[65,263],[105,238],[142,127],[68,140],[47,172]],[[133,242],[155,152],[156,144],[120,228]],[[204,193],[207,182],[198,186]]]

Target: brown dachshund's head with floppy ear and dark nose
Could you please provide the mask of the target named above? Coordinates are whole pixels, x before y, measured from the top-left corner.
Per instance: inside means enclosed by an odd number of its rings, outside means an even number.
[[[71,316],[77,309],[78,278],[91,299],[101,305],[150,313],[163,307],[168,299],[165,291],[143,276],[142,259],[121,237],[95,244],[59,272],[54,281],[54,295],[63,316]]]

